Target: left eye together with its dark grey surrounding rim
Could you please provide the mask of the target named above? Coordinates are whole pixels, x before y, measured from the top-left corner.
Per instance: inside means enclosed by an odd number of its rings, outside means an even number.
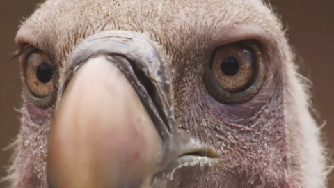
[[[20,61],[26,96],[37,107],[50,107],[56,99],[55,65],[45,52],[37,48],[23,55]]]

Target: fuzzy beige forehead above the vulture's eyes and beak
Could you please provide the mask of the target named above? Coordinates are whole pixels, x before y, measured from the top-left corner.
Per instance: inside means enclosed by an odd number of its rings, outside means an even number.
[[[281,33],[280,22],[261,0],[47,0],[22,27],[31,30],[31,45],[52,48],[49,51],[59,56],[102,30],[141,31],[162,40],[196,41],[210,40],[207,33],[220,26],[247,23],[275,36]]]

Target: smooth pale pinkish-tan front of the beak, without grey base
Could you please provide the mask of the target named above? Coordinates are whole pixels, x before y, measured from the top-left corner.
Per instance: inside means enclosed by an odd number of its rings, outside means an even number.
[[[129,81],[104,56],[74,75],[49,136],[50,187],[147,187],[161,138]]]

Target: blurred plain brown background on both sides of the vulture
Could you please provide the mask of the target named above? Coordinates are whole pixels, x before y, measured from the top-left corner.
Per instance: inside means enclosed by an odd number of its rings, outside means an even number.
[[[0,177],[11,151],[3,151],[15,139],[19,129],[21,82],[17,61],[9,61],[19,20],[33,13],[40,0],[0,1]],[[314,103],[322,120],[328,148],[334,147],[334,1],[271,0],[271,4],[289,29],[290,44],[303,59],[304,75],[314,83]],[[328,187],[334,188],[334,173]],[[3,187],[0,183],[0,187]]]

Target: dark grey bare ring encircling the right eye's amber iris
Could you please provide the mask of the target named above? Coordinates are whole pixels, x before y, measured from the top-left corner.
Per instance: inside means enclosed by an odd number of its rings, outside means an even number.
[[[215,58],[216,50],[213,53],[209,64],[205,65],[204,75],[202,77],[203,84],[209,95],[222,104],[241,104],[251,100],[258,93],[264,81],[264,65],[262,63],[260,49],[253,41],[249,40],[234,42],[233,44],[235,43],[240,44],[245,49],[255,54],[253,58],[254,62],[252,64],[253,74],[248,83],[238,91],[228,91],[219,83],[216,77],[214,77],[214,72],[212,71],[212,64],[214,62],[213,59]],[[219,48],[221,47],[218,47],[218,49]]]

